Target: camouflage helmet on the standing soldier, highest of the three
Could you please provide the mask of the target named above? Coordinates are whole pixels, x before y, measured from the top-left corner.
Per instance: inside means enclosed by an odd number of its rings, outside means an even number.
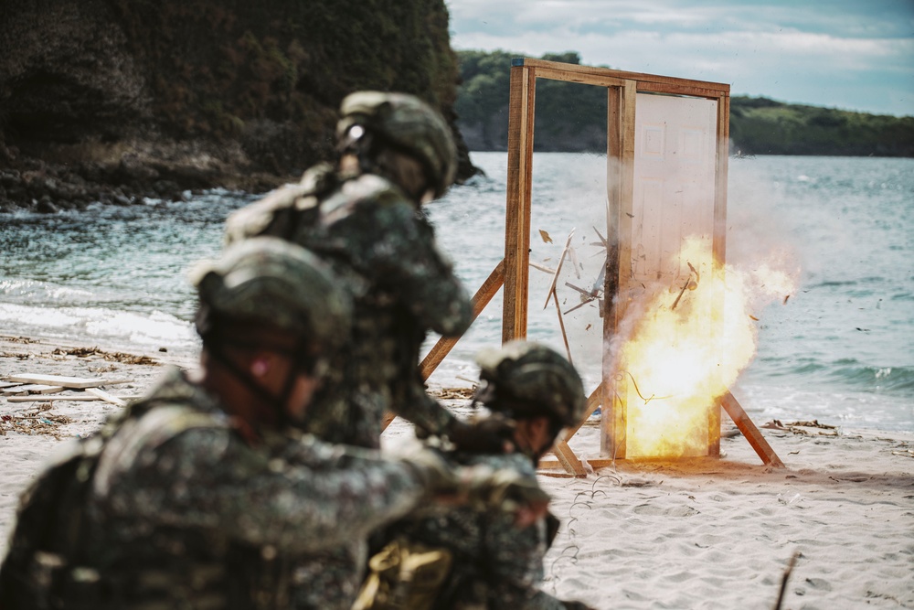
[[[356,91],[340,104],[336,136],[345,141],[356,125],[384,144],[416,157],[425,168],[435,197],[441,197],[457,173],[457,149],[451,129],[438,112],[406,93]]]

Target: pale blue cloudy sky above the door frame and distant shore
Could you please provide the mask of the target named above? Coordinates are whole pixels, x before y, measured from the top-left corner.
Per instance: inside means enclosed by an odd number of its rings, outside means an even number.
[[[731,95],[914,115],[914,0],[445,0],[456,50],[730,84]]]

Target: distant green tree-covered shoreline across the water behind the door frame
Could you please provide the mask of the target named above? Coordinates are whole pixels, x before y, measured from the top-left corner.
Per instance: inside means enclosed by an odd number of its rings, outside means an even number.
[[[471,150],[505,150],[511,59],[505,51],[460,51],[456,111]],[[579,64],[575,52],[541,59]],[[602,88],[537,81],[537,150],[605,151]],[[914,156],[914,117],[847,112],[767,98],[730,98],[730,140],[744,155]]]

